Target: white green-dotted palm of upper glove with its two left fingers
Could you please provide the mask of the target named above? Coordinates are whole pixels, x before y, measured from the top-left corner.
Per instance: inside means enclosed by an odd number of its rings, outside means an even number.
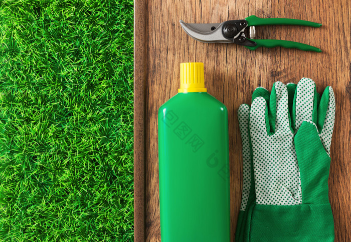
[[[253,153],[256,203],[273,205],[301,204],[301,184],[290,129],[288,93],[282,82],[275,82],[275,132],[266,128],[267,103],[254,99],[250,110],[250,134]]]

